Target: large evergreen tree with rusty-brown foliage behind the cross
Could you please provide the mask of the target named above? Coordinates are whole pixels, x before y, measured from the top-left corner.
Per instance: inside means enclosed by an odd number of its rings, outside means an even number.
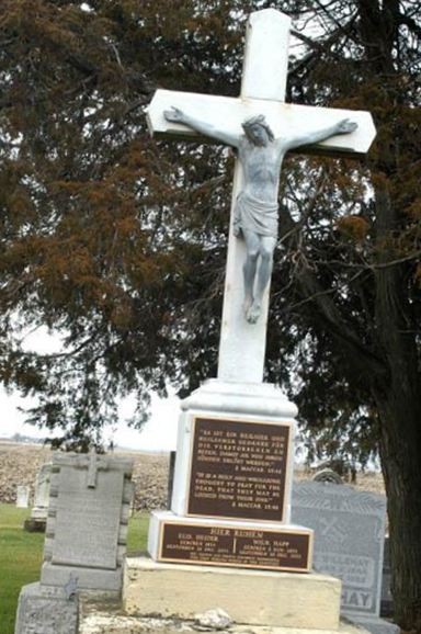
[[[214,376],[232,157],[156,143],[156,88],[239,92],[247,14],[294,19],[288,100],[369,110],[366,160],[291,157],[268,376],[315,453],[385,476],[396,616],[421,630],[420,16],[402,0],[3,0],[0,372],[87,442],[116,399]],[[65,350],[29,353],[46,325]]]

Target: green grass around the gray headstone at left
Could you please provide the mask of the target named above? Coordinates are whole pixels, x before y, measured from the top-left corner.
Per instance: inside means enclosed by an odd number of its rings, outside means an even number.
[[[39,579],[44,534],[23,530],[30,512],[0,503],[0,634],[13,634],[21,587]],[[148,523],[147,513],[130,519],[128,554],[146,550]]]

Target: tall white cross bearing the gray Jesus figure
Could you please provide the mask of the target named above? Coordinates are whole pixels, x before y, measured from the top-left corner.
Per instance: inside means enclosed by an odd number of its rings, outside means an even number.
[[[273,251],[271,238],[273,240],[276,233],[277,184],[285,152],[299,147],[301,152],[307,150],[318,155],[359,157],[364,156],[375,137],[375,127],[368,112],[285,103],[289,26],[291,19],[274,9],[251,14],[239,98],[158,90],[147,114],[149,128],[158,138],[196,138],[198,143],[224,143],[237,148],[244,136],[242,124],[252,122],[252,117],[264,116],[275,137],[275,143],[270,144],[270,150],[275,156],[272,157],[271,166],[261,165],[260,169],[273,172],[266,183],[272,182],[270,195],[274,199],[272,216],[275,217],[270,223],[275,227],[272,230],[265,228],[261,234],[266,238],[261,241],[269,245],[265,244],[261,249],[260,256],[263,253],[263,258],[260,257],[258,263],[260,269],[265,254],[270,252],[271,257]],[[178,116],[177,111],[172,111],[174,107],[184,117]],[[354,124],[352,134],[343,134],[351,129],[343,124],[346,118]],[[253,126],[248,127],[252,129]],[[263,126],[255,125],[254,129],[259,127],[258,134],[263,134]],[[262,152],[257,149],[251,152],[249,160],[241,160],[246,149],[243,143],[241,146],[238,148],[239,160],[232,189],[218,378],[259,383],[263,377],[270,284],[264,285],[263,297],[259,302],[259,316],[251,314],[249,319],[247,316],[244,318],[243,267],[247,251],[253,250],[253,245],[248,248],[247,238],[244,240],[244,236],[236,235],[239,233],[238,196],[244,192],[244,165],[249,172],[246,174],[247,183],[250,181],[251,165],[261,161],[259,155]],[[249,194],[253,195],[253,192],[249,191]],[[261,192],[254,192],[254,197],[262,199],[264,194],[262,196]],[[271,212],[268,214],[271,215]],[[255,307],[251,313],[254,310]]]

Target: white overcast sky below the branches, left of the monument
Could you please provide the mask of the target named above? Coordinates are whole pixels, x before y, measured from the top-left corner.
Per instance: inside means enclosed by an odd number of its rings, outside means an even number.
[[[24,348],[38,352],[57,352],[61,349],[60,340],[56,336],[48,335],[44,328],[37,329],[25,338]],[[15,433],[33,438],[49,435],[33,424],[25,424],[24,412],[20,408],[27,409],[35,405],[31,398],[22,398],[18,393],[8,395],[0,386],[0,437],[12,437]],[[151,395],[150,419],[139,430],[130,429],[124,420],[129,418],[134,409],[134,399],[125,399],[120,403],[121,422],[117,428],[104,430],[104,441],[113,439],[114,444],[122,448],[145,451],[172,451],[177,445],[177,423],[180,412],[180,401],[175,396],[161,399]]]

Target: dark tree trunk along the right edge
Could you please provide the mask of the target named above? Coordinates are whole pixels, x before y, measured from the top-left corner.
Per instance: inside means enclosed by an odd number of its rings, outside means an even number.
[[[373,383],[380,419],[380,456],[388,500],[395,619],[421,633],[421,381],[417,318],[408,298],[411,270],[394,263],[390,236],[399,223],[386,185],[376,188],[375,332],[387,380]]]

